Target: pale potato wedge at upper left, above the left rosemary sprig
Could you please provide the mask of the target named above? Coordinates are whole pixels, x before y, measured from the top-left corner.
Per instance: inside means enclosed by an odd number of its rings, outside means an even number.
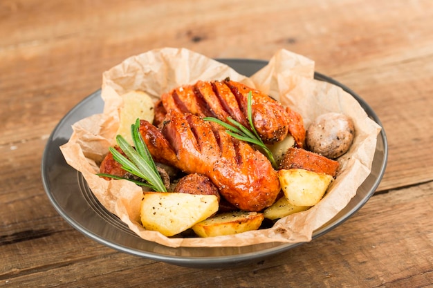
[[[122,135],[129,144],[133,144],[131,124],[134,124],[137,118],[147,120],[150,123],[154,121],[154,100],[140,90],[130,91],[123,94],[121,97],[123,106],[120,110],[120,124],[116,135]]]

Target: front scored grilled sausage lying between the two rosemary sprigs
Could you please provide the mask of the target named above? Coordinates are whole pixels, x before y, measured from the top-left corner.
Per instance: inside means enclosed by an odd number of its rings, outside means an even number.
[[[157,162],[208,176],[237,209],[261,211],[275,202],[277,171],[255,148],[190,113],[171,110],[163,123],[159,130],[140,122],[140,133]]]

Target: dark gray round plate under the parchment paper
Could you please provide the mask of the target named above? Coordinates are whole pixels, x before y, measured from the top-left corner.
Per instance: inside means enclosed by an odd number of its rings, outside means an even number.
[[[243,75],[252,75],[266,65],[266,61],[246,59],[219,59]],[[338,85],[353,95],[369,117],[380,124],[373,110],[358,95],[337,81],[320,73],[315,79]],[[81,173],[66,164],[59,146],[68,142],[72,134],[71,125],[80,119],[102,113],[104,102],[100,90],[77,104],[57,124],[48,139],[42,158],[42,180],[48,198],[57,212],[75,229],[89,238],[118,251],[130,253],[173,265],[196,268],[230,267],[258,262],[277,253],[296,247],[297,244],[255,244],[247,247],[224,248],[171,248],[142,240],[130,231],[126,224],[109,213],[93,196]],[[356,196],[338,215],[313,233],[313,239],[324,235],[358,211],[374,194],[385,172],[387,163],[387,140],[385,131],[378,135],[376,154],[371,174],[359,187]]]

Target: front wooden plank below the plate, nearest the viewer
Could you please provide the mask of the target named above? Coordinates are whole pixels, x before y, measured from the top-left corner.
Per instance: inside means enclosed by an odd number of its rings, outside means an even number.
[[[64,231],[33,240],[32,249],[25,242],[0,246],[2,255],[10,255],[10,249],[21,251],[8,271],[0,273],[0,279],[9,285],[36,287],[102,283],[116,287],[227,287],[234,282],[239,287],[427,287],[433,282],[432,202],[433,182],[375,195],[325,236],[273,258],[228,269],[189,269],[145,260]],[[50,253],[46,253],[48,244]],[[19,273],[23,269],[19,263],[29,263],[26,251],[32,254],[34,266]],[[51,266],[55,262],[57,266]]]

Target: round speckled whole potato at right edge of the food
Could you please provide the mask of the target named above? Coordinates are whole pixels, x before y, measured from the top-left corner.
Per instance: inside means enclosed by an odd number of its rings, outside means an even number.
[[[306,148],[330,159],[346,153],[355,135],[352,120],[342,113],[319,115],[306,131]]]

